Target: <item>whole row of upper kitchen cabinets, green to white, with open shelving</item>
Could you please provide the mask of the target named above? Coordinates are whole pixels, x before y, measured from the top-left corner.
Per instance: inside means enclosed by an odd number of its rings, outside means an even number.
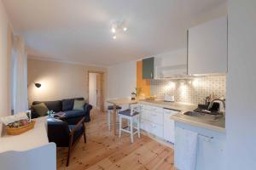
[[[228,71],[227,17],[188,30],[187,48],[143,59],[143,79],[184,79]]]

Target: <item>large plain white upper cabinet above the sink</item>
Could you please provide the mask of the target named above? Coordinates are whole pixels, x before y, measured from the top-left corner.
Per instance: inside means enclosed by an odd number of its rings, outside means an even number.
[[[227,72],[227,25],[222,17],[189,29],[189,75]]]

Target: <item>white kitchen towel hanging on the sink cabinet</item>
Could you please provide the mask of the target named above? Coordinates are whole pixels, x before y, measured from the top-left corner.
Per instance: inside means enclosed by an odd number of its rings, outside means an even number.
[[[198,133],[176,127],[174,164],[179,170],[195,170]]]

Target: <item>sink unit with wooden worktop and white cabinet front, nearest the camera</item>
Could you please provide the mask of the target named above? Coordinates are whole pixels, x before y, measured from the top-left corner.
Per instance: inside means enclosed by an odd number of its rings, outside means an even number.
[[[192,111],[189,111],[192,112]],[[195,160],[196,170],[224,170],[224,141],[225,141],[225,123],[224,116],[218,119],[211,119],[210,115],[203,116],[187,116],[182,112],[172,116],[175,121],[175,140],[178,142],[188,141],[187,144],[193,143],[193,139],[183,132],[195,133],[197,136],[195,157],[189,158]],[[214,117],[214,116],[212,116]],[[175,145],[175,166],[181,168],[178,162],[183,161],[180,153],[190,150],[186,146]],[[186,149],[184,149],[186,148]]]

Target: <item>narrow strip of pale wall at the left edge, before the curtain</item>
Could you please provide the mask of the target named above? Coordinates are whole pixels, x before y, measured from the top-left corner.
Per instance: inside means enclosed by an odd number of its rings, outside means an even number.
[[[10,113],[8,31],[8,16],[2,1],[0,1],[0,116],[7,116]]]

